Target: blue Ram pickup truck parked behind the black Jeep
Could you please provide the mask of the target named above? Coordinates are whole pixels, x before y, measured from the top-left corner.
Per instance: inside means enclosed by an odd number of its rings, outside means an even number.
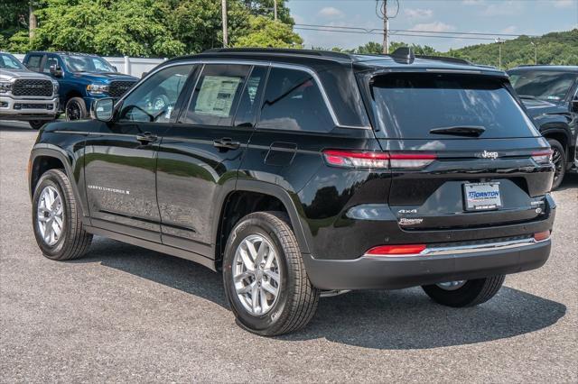
[[[60,104],[67,120],[89,117],[92,104],[103,97],[118,99],[138,78],[118,73],[96,55],[70,52],[28,52],[24,65],[60,84]]]

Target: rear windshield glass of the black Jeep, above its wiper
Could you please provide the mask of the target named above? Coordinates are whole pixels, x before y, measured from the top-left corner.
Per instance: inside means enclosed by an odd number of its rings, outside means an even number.
[[[378,128],[387,137],[462,138],[430,131],[471,126],[485,129],[480,138],[538,135],[499,79],[455,74],[393,74],[374,78],[371,92]]]

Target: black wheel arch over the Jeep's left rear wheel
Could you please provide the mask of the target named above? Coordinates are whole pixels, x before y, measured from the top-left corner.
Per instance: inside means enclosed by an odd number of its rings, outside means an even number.
[[[283,211],[289,216],[289,224],[294,231],[299,249],[310,253],[307,236],[303,229],[297,205],[291,195],[282,187],[258,180],[229,180],[223,185],[223,191],[215,206],[220,208],[219,218],[213,223],[215,241],[215,267],[220,268],[223,251],[228,235],[238,220],[252,212]],[[243,200],[245,198],[245,200]],[[247,199],[249,201],[247,201]],[[238,203],[247,203],[244,209],[238,210]],[[230,216],[231,213],[235,215]]]

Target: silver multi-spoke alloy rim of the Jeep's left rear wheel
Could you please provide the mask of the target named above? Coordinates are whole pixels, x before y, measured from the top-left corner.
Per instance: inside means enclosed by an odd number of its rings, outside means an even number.
[[[265,315],[281,289],[279,259],[264,236],[251,234],[239,243],[232,264],[237,297],[251,315]]]

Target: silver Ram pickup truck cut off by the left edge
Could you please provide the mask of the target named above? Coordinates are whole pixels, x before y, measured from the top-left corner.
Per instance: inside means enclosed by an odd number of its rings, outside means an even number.
[[[34,129],[58,117],[58,82],[0,52],[0,120],[28,121]]]

